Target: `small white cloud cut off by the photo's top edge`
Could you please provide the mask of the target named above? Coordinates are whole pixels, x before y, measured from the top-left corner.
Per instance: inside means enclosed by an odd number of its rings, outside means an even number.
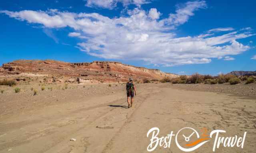
[[[140,7],[142,4],[148,4],[151,1],[152,0],[87,0],[85,5],[88,7],[107,8],[112,10],[116,7],[118,2],[122,3],[123,6],[134,4]]]

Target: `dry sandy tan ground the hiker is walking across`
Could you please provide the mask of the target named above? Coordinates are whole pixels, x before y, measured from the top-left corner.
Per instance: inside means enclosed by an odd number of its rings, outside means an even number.
[[[30,88],[39,93],[32,96]],[[52,87],[50,90],[48,87]],[[4,87],[0,94],[0,153],[146,153],[149,129],[159,137],[184,127],[226,130],[223,137],[247,131],[244,148],[223,147],[216,153],[254,153],[256,149],[256,99],[252,96],[183,89],[169,83],[137,85],[134,107],[127,108],[122,84],[23,85],[20,93]],[[3,88],[3,87],[1,87]],[[184,131],[190,135],[191,131]],[[76,141],[70,141],[70,139]],[[178,137],[180,144],[182,136]],[[196,140],[195,136],[191,141]],[[210,139],[195,153],[212,152]],[[183,152],[174,137],[170,148],[153,152]]]

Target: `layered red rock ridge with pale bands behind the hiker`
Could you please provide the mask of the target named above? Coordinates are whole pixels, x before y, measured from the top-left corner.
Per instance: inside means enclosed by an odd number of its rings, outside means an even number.
[[[3,64],[0,76],[44,77],[44,82],[70,83],[126,82],[129,77],[138,81],[144,78],[159,80],[178,77],[158,69],[134,67],[119,62],[66,63],[52,60],[19,60]]]

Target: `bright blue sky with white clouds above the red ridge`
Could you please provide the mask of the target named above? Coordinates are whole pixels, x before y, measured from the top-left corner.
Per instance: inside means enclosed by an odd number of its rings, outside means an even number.
[[[120,61],[164,72],[256,71],[253,0],[9,0],[0,65],[17,59]]]

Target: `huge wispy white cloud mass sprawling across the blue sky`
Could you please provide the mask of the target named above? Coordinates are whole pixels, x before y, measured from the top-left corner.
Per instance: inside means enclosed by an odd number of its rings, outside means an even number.
[[[186,37],[178,37],[172,32],[172,29],[194,16],[196,10],[206,7],[204,1],[186,2],[177,6],[175,13],[161,20],[160,12],[154,8],[149,12],[140,8],[128,10],[128,16],[119,18],[108,18],[97,13],[51,10],[5,10],[0,13],[47,28],[70,27],[74,30],[69,33],[70,37],[84,39],[77,44],[77,48],[88,55],[104,59],[142,60],[170,67],[210,63],[212,58],[231,60],[232,57],[228,56],[247,51],[250,47],[239,43],[237,39],[255,35],[252,31],[226,31],[218,36],[202,33]]]

